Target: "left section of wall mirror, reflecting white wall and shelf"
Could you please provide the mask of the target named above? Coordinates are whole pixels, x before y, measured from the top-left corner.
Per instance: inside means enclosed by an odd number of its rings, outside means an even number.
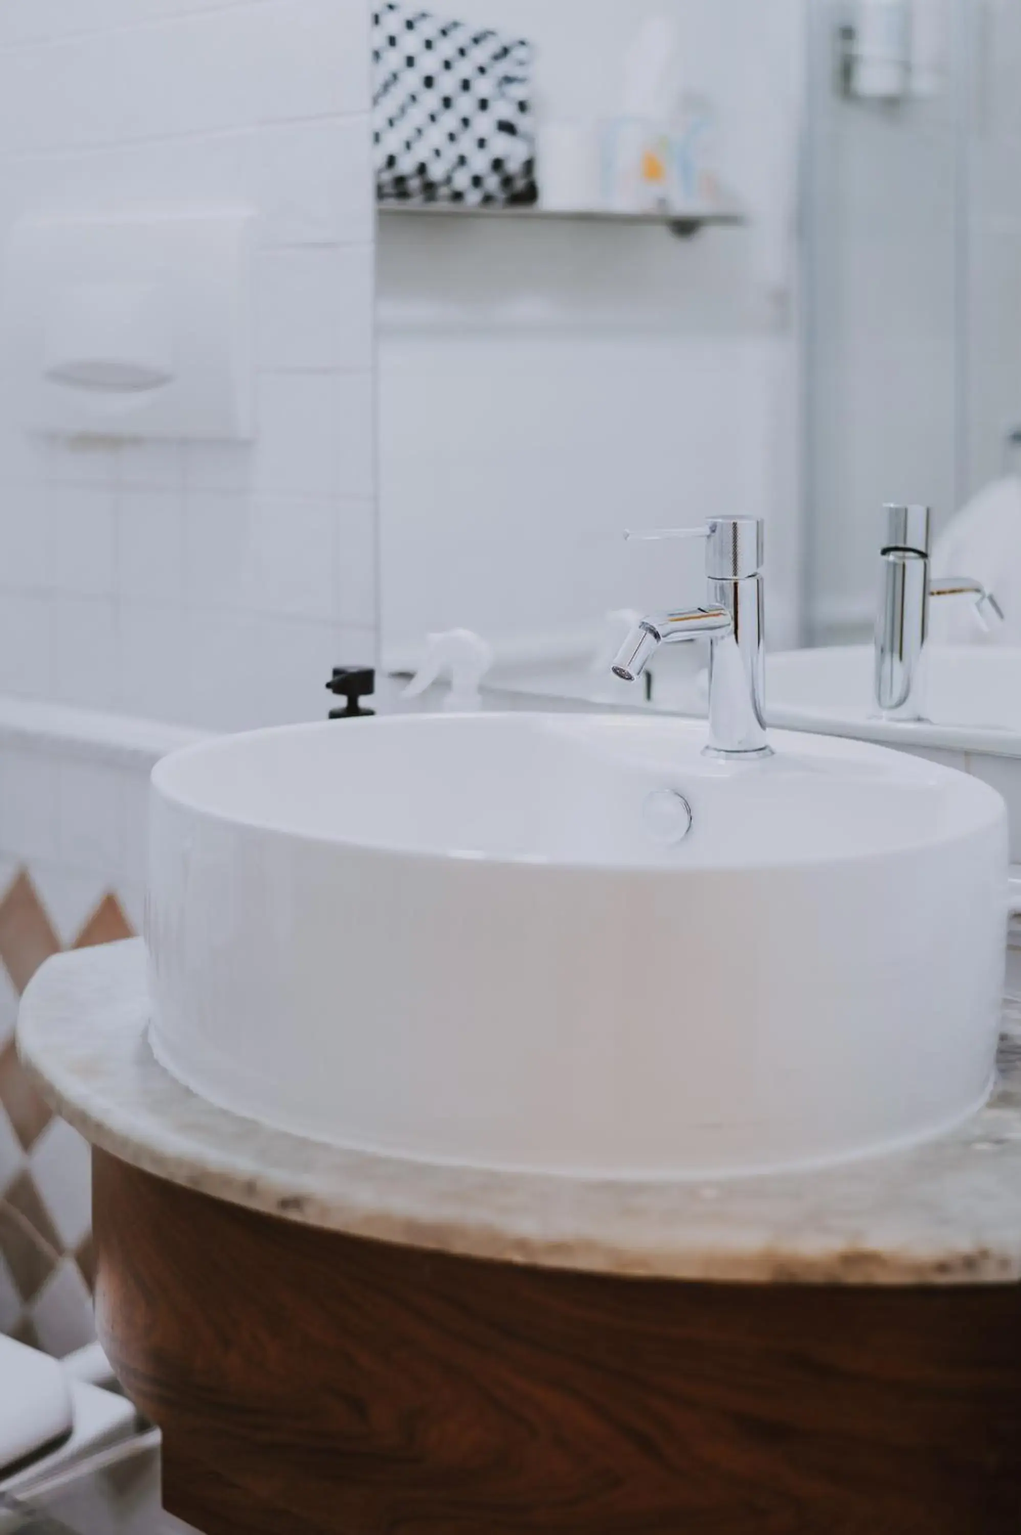
[[[794,637],[798,12],[378,9],[387,666],[450,628],[501,663],[583,662],[606,614],[700,589],[697,550],[623,530],[735,507],[775,528],[774,622]],[[734,29],[752,34],[740,61]],[[473,69],[482,101],[504,80],[501,111],[527,107],[527,167],[504,187],[507,146],[481,147],[493,112],[461,89]]]

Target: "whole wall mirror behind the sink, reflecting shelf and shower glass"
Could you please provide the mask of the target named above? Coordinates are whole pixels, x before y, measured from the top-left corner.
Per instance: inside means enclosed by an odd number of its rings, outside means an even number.
[[[735,513],[768,523],[772,649],[866,635],[880,505],[941,527],[1018,425],[1010,8],[422,11],[375,29],[384,665],[462,626],[582,665],[608,614],[699,596],[697,546],[623,528]],[[459,103],[448,137],[462,46],[513,75],[531,169]]]

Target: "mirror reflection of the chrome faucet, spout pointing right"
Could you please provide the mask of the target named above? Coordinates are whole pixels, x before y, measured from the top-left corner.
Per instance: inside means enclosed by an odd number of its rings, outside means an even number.
[[[924,720],[929,609],[933,599],[972,597],[980,620],[1003,623],[993,594],[970,576],[932,580],[929,507],[884,507],[883,588],[875,628],[875,703],[887,720]]]

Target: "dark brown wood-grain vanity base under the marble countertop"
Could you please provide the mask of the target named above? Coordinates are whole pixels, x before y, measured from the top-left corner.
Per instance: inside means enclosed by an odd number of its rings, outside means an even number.
[[[1018,1535],[1021,1291],[319,1233],[95,1156],[98,1319],[206,1535]]]

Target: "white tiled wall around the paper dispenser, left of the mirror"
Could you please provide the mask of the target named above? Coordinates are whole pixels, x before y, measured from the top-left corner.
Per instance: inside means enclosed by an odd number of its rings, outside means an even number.
[[[368,0],[5,0],[0,255],[37,212],[247,204],[258,437],[45,441],[0,393],[0,694],[321,717],[376,649]]]

